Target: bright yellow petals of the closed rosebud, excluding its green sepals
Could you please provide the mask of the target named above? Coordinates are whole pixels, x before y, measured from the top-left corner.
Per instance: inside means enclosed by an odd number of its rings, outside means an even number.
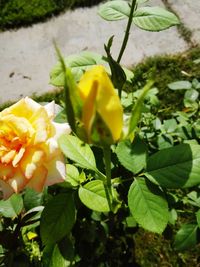
[[[113,140],[118,140],[122,132],[123,109],[104,67],[95,66],[85,72],[78,86],[83,101],[88,103],[87,105],[84,103],[86,107],[84,106],[83,109],[83,113],[86,114],[84,116],[86,118],[84,124],[87,127],[87,131],[89,129],[88,124],[94,114],[92,113],[91,115],[91,108],[94,109],[95,105],[96,111],[112,133]],[[91,95],[95,95],[94,88],[97,90],[96,98],[91,97]]]

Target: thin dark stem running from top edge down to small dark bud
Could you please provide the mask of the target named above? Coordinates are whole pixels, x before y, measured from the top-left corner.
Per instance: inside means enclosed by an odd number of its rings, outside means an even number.
[[[121,49],[119,52],[119,56],[117,59],[118,63],[120,63],[120,61],[121,61],[121,58],[124,54],[124,50],[125,50],[127,42],[128,42],[129,32],[130,32],[130,28],[131,28],[131,24],[132,24],[132,20],[133,20],[133,13],[135,11],[135,6],[136,6],[136,0],[132,0],[130,14],[129,14],[129,18],[128,18],[128,23],[127,23],[126,31],[125,31],[125,35],[124,35],[124,40],[123,40],[123,43],[122,43],[122,46],[121,46]]]

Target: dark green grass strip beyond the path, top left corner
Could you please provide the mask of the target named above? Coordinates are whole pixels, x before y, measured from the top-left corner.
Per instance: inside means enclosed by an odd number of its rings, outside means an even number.
[[[8,0],[0,2],[0,29],[16,28],[56,15],[67,8],[90,6],[101,0]]]

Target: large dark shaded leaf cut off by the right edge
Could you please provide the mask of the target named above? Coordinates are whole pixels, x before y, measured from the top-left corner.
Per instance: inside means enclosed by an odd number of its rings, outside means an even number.
[[[200,146],[181,144],[163,149],[147,160],[146,177],[167,188],[200,183]]]

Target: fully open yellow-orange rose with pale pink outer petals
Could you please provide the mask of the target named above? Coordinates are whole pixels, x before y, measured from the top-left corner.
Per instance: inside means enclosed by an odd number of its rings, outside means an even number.
[[[62,182],[65,162],[57,139],[67,123],[53,122],[54,102],[41,106],[26,97],[0,112],[0,187],[4,199],[30,187]]]

